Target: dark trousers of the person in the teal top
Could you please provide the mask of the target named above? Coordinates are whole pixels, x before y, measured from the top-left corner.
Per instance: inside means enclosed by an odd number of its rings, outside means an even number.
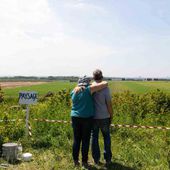
[[[79,151],[81,143],[82,143],[81,147],[82,162],[87,163],[88,161],[88,151],[92,125],[93,117],[90,118],[72,117],[72,127],[74,135],[72,155],[75,162],[79,160]]]

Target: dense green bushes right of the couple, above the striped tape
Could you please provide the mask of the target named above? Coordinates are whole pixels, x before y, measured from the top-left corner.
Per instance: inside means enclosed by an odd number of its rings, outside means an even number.
[[[122,124],[168,125],[170,96],[160,90],[113,94],[114,121]]]

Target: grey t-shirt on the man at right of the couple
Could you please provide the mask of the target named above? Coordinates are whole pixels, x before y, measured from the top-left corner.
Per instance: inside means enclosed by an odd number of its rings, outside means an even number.
[[[95,116],[94,119],[106,119],[110,117],[107,110],[106,101],[111,100],[109,88],[104,88],[93,94],[94,106],[95,106]]]

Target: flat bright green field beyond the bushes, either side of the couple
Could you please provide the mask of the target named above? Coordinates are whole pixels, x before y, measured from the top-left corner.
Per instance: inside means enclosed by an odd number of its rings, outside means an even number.
[[[30,90],[37,91],[39,95],[44,95],[47,92],[58,92],[62,89],[72,89],[76,83],[71,83],[68,81],[56,81],[49,82],[41,85],[25,86],[25,87],[16,87],[10,89],[4,89],[5,96],[7,97],[16,97],[19,91]],[[146,93],[152,90],[160,89],[164,92],[170,93],[170,81],[158,81],[158,82],[142,82],[142,81],[110,81],[109,87],[111,92],[122,92],[122,91],[131,91],[134,93]]]

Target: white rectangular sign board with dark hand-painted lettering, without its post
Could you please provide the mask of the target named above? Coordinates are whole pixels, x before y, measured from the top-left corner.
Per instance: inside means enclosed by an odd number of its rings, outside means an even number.
[[[37,92],[22,91],[19,92],[19,104],[34,104],[37,103]]]

